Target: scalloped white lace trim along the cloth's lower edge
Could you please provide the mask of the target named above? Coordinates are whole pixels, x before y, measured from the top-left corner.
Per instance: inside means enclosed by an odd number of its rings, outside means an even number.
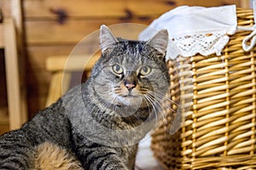
[[[184,57],[202,54],[221,55],[224,46],[229,42],[230,37],[226,33],[218,31],[208,34],[197,33],[191,36],[173,37],[170,41],[167,56],[176,58],[177,55]],[[176,46],[177,50],[172,50]]]

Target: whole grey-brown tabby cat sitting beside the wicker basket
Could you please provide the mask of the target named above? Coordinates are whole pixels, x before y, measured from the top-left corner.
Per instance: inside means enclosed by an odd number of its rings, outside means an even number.
[[[148,41],[101,26],[102,56],[88,80],[0,137],[0,169],[134,169],[137,143],[160,116],[170,80],[168,33]]]

